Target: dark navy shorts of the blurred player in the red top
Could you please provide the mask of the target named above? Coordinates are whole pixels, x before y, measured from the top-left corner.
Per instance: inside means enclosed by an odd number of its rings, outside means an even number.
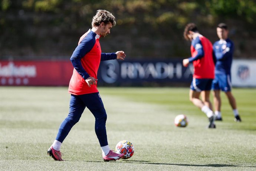
[[[193,78],[190,89],[196,92],[201,91],[210,91],[211,90],[211,83],[213,79],[197,79]]]

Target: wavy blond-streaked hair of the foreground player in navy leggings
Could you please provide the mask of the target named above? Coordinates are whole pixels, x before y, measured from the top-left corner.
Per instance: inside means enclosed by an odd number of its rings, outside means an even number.
[[[102,22],[108,24],[109,22],[115,26],[115,17],[107,10],[97,10],[97,13],[92,18],[92,27],[99,26]]]

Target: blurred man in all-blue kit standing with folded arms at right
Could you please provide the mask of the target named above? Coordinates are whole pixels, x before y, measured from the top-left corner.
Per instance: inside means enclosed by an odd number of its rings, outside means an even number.
[[[217,35],[219,41],[213,44],[213,52],[216,57],[215,64],[215,78],[213,80],[213,103],[215,114],[217,115],[216,120],[222,121],[221,118],[221,98],[220,90],[226,93],[229,99],[229,104],[233,109],[234,121],[241,122],[241,118],[237,111],[236,99],[231,93],[231,64],[233,58],[234,44],[228,38],[229,30],[225,23],[220,23],[217,26]]]

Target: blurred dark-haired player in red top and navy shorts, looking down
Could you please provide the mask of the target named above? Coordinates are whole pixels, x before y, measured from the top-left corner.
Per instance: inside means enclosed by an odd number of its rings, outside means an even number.
[[[210,102],[211,83],[214,79],[213,47],[211,42],[202,36],[194,23],[188,23],[184,37],[191,41],[191,57],[183,59],[183,66],[193,63],[194,74],[190,85],[190,101],[209,118],[208,128],[216,128],[215,115]],[[200,95],[202,100],[200,99]]]

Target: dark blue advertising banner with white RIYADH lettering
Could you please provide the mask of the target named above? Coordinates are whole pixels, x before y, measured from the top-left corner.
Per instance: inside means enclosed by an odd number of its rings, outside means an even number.
[[[98,85],[140,86],[151,83],[190,83],[193,65],[182,60],[108,60],[101,62]]]

